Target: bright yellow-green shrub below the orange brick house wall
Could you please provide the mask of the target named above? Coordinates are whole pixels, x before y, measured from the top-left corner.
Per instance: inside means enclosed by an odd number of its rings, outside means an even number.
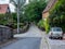
[[[43,30],[46,30],[47,32],[47,34],[49,33],[49,30],[50,30],[50,25],[49,25],[49,21],[48,20],[40,20],[39,21],[39,23],[38,23],[38,26],[40,27],[40,28],[43,28]]]

